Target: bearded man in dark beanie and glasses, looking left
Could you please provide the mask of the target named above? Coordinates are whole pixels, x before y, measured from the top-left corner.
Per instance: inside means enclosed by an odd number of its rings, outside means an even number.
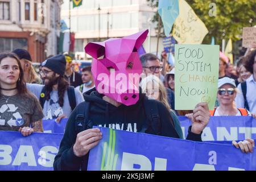
[[[69,86],[64,78],[66,60],[64,55],[56,55],[41,64],[40,76],[44,85],[27,84],[30,92],[34,93],[43,107],[43,119],[68,118],[72,110],[84,101],[79,90]]]

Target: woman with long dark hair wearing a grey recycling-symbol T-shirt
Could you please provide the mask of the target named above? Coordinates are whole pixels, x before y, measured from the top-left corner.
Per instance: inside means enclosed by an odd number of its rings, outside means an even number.
[[[0,130],[20,131],[24,137],[43,132],[43,111],[27,91],[22,65],[14,53],[0,54]]]

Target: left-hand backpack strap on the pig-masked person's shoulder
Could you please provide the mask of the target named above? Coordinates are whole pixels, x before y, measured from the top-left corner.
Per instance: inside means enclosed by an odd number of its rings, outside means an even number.
[[[76,134],[84,131],[86,129],[91,129],[93,123],[89,120],[89,109],[90,109],[90,102],[82,102],[77,107],[77,114],[75,117],[75,131]]]

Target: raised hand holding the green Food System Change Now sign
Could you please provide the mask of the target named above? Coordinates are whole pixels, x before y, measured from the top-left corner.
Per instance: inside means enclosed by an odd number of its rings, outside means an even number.
[[[207,102],[200,102],[195,106],[192,115],[191,131],[195,134],[200,134],[207,126],[210,119],[210,111]]]

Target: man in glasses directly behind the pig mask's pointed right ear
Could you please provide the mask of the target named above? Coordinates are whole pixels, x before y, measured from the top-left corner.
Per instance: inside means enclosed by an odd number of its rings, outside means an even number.
[[[160,60],[158,59],[158,56],[152,53],[146,53],[141,57],[139,57],[139,59],[141,60],[143,73],[145,74],[145,76],[148,76],[148,74],[152,74],[152,75],[158,76],[159,78],[161,76],[163,77],[163,75],[161,75],[160,73],[163,67],[160,64]],[[164,79],[160,78],[160,80],[164,80]],[[171,106],[171,108],[174,109],[174,105],[175,105],[174,92],[169,88],[166,88],[166,92],[167,92],[168,103]]]

